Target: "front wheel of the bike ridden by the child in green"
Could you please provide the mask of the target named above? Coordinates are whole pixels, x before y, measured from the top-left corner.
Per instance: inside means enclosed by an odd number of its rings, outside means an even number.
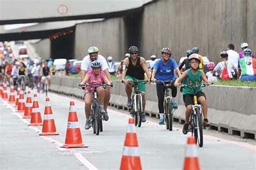
[[[199,108],[196,108],[196,127],[194,129],[194,137],[198,142],[199,147],[203,146],[203,126],[202,126],[202,116],[200,114]]]

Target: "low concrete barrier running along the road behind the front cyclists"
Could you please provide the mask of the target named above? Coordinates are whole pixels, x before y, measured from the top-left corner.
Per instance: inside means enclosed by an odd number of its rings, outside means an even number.
[[[65,95],[83,98],[82,89],[78,88],[80,79],[75,77],[52,76],[52,91]],[[256,88],[209,86],[204,89],[208,101],[208,118],[211,129],[256,139]],[[113,82],[110,105],[118,109],[129,110],[126,107],[126,93],[124,84]],[[185,107],[183,96],[178,89],[177,101],[179,107],[174,111],[174,122],[185,122]],[[159,118],[158,100],[155,84],[147,84],[146,115]]]

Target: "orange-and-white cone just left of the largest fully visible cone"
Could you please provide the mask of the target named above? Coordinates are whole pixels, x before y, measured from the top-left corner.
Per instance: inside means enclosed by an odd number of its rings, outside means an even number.
[[[52,117],[52,110],[49,97],[45,99],[45,108],[44,108],[44,122],[42,133],[39,135],[58,135],[56,131],[55,122]]]

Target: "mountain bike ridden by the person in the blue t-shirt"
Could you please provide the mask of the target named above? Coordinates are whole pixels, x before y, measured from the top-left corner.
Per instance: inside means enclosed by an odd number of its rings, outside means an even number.
[[[170,96],[170,88],[173,86],[174,81],[175,80],[156,81],[156,83],[163,84],[163,88],[165,90],[165,94],[164,94],[165,125],[166,125],[166,129],[169,129],[170,131],[172,131],[173,112],[174,112],[174,109],[172,107],[172,97]]]

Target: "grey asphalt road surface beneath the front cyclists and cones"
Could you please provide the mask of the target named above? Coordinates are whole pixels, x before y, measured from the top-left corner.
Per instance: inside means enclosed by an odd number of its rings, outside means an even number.
[[[42,126],[26,125],[30,119],[21,119],[13,104],[0,99],[0,169],[118,169],[122,158],[127,122],[127,111],[109,108],[110,119],[104,122],[104,132],[96,136],[85,130],[82,100],[49,94],[58,136],[39,136]],[[41,116],[45,95],[39,94]],[[75,101],[83,143],[87,148],[65,149],[69,102]],[[174,124],[168,131],[149,118],[136,128],[139,154],[143,169],[182,169],[186,139]],[[241,139],[216,131],[204,130],[204,146],[199,148],[201,169],[256,169],[256,141]]]

